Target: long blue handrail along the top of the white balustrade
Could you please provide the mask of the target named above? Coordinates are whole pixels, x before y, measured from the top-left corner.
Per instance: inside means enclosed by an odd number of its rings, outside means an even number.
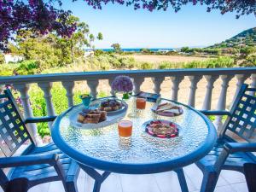
[[[140,74],[140,77],[168,77],[168,76],[195,76],[195,75],[236,75],[256,73],[256,67],[233,68],[192,68],[192,69],[156,69],[156,70],[119,70],[79,73],[48,73],[36,75],[2,76],[0,84],[58,82],[72,77],[73,81],[86,79],[110,79],[113,76],[128,75],[131,78]]]

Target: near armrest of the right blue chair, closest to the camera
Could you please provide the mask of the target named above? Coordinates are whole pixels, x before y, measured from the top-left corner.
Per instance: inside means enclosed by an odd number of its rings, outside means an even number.
[[[230,153],[256,152],[256,143],[225,143],[224,148]]]

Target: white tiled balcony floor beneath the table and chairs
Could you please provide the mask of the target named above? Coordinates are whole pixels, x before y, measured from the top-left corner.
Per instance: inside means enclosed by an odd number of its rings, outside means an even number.
[[[184,167],[189,192],[198,192],[202,173],[194,164]],[[78,179],[79,192],[91,192],[93,180],[84,172]],[[111,174],[102,184],[101,192],[179,192],[181,191],[175,172],[150,175]],[[240,172],[223,171],[215,192],[247,192],[245,177]],[[29,192],[64,192],[61,182],[44,183]]]

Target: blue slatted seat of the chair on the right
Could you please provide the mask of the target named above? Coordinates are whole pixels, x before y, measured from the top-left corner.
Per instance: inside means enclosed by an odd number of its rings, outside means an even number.
[[[202,170],[207,166],[213,166],[218,160],[218,155],[224,148],[224,143],[230,142],[226,139],[218,139],[217,143],[215,143],[214,147],[204,158],[196,162],[196,165],[199,166]],[[222,169],[225,170],[236,170],[238,172],[243,172],[243,164],[244,163],[255,163],[256,160],[253,157],[244,152],[238,152],[235,154],[230,154],[227,160],[224,163]]]

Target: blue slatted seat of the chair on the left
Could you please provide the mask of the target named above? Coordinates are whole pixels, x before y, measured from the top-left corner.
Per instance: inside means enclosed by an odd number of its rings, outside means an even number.
[[[61,165],[66,172],[66,180],[73,179],[79,175],[79,166],[74,160],[70,159],[67,154],[63,154],[60,149],[58,149],[54,143],[49,143],[44,147],[32,148],[27,154],[59,154]],[[48,164],[39,164],[35,166],[19,166],[15,167],[11,173],[10,178],[15,179],[18,177],[26,177],[30,182],[37,184],[37,181],[42,183],[60,180],[58,173],[55,172],[53,166]]]

